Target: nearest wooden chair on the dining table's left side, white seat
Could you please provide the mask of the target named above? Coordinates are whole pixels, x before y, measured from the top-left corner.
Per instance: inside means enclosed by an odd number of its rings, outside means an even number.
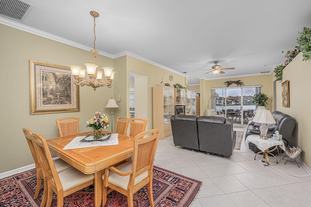
[[[39,157],[40,166],[47,186],[46,202],[41,202],[41,207],[50,207],[52,204],[53,192],[57,196],[57,207],[63,207],[64,197],[78,190],[84,189],[94,183],[94,174],[84,174],[77,169],[69,169],[57,173],[52,156],[45,138],[37,133],[33,133],[32,139],[35,143],[35,151]]]

